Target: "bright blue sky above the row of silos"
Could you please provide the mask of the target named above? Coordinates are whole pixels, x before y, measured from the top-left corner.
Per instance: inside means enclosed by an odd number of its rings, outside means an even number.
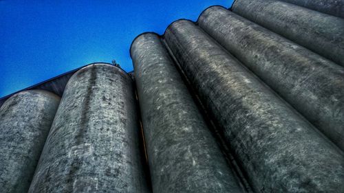
[[[233,0],[0,0],[0,98],[88,63],[133,69],[131,41]]]

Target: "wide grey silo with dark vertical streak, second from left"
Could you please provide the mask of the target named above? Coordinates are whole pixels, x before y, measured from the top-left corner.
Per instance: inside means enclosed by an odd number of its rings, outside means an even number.
[[[98,64],[69,79],[29,192],[148,192],[131,78]]]

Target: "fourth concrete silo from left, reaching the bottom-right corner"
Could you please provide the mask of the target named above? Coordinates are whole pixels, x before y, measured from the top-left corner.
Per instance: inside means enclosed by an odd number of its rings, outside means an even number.
[[[257,192],[343,192],[338,148],[238,60],[191,21],[164,37]]]

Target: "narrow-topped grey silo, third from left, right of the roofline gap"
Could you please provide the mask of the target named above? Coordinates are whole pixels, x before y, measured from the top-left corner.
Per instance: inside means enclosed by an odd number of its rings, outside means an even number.
[[[153,192],[243,192],[158,35],[131,46]]]

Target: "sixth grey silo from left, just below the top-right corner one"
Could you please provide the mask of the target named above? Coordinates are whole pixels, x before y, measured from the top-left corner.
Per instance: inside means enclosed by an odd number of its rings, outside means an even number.
[[[344,19],[276,0],[237,0],[232,11],[344,66]]]

